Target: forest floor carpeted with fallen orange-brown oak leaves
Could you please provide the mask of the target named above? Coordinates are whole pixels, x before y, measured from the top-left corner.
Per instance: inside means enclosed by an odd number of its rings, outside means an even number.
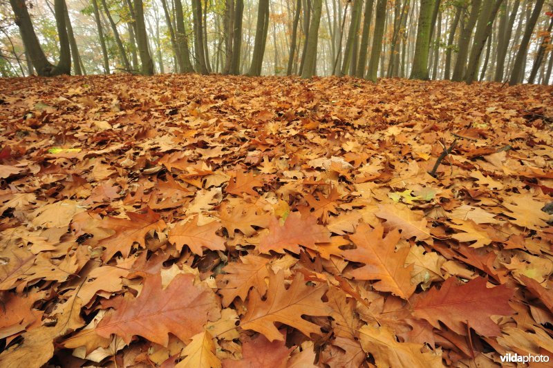
[[[0,79],[0,366],[553,358],[552,93]]]

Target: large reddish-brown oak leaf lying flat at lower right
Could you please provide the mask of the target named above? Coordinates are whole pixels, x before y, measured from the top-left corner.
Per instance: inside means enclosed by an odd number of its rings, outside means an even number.
[[[514,291],[505,284],[487,288],[485,278],[475,278],[458,285],[456,278],[444,281],[440,290],[433,287],[413,304],[413,315],[424,318],[439,329],[440,322],[459,333],[467,333],[467,325],[481,336],[498,336],[500,329],[489,318],[492,315],[509,316],[513,309],[509,299]]]

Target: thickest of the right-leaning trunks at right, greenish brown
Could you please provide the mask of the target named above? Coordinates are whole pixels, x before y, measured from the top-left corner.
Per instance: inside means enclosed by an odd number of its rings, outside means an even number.
[[[478,59],[480,59],[482,49],[491,32],[491,26],[494,25],[494,19],[496,19],[496,14],[502,1],[503,0],[486,0],[482,5],[482,11],[480,12],[480,17],[478,17],[478,24],[476,25],[476,32],[474,32],[474,40],[472,41],[467,75],[465,76],[467,84],[471,84],[476,78],[476,74],[478,73]]]

